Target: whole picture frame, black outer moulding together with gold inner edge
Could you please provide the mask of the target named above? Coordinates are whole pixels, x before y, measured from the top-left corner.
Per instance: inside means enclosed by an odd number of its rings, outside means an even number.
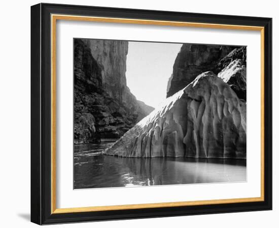
[[[260,197],[56,207],[56,22],[94,21],[258,31],[261,42]],[[58,4],[31,7],[31,221],[37,224],[272,210],[272,19]]]

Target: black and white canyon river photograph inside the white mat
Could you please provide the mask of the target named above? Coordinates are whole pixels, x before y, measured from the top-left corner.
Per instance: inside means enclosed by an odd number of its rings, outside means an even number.
[[[74,39],[74,188],[247,181],[246,49]]]

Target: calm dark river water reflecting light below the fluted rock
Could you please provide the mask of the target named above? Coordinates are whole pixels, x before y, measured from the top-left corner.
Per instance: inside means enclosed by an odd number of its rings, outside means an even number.
[[[243,182],[246,160],[121,158],[101,152],[113,142],[75,146],[74,188]]]

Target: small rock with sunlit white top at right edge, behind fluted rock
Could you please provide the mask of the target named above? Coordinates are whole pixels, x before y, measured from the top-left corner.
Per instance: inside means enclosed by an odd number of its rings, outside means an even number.
[[[218,77],[230,85],[238,98],[246,101],[246,66],[242,60],[233,60]]]

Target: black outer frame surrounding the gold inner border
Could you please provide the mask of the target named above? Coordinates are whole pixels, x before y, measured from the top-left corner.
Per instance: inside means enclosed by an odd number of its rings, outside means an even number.
[[[264,201],[51,214],[51,14],[264,26]],[[58,4],[31,7],[31,221],[37,224],[272,210],[272,18]]]

